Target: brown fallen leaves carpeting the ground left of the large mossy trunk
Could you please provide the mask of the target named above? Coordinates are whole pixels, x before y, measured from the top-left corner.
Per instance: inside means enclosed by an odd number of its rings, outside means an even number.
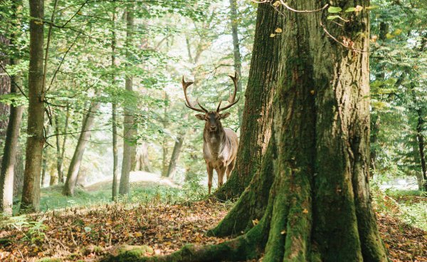
[[[32,239],[16,228],[0,231],[0,239],[11,241],[0,245],[0,261],[94,260],[123,243],[149,246],[152,255],[172,253],[186,243],[220,243],[227,239],[208,237],[205,232],[228,209],[224,204],[200,201],[189,206],[113,204],[49,212],[43,214],[47,227],[41,237],[34,233]]]

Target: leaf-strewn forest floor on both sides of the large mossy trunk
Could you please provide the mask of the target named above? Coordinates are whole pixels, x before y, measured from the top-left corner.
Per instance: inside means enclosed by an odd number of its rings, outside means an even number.
[[[375,204],[378,225],[391,261],[427,261],[427,232],[394,215],[399,213],[396,200],[381,198],[383,206]],[[416,201],[427,197],[417,196]],[[220,243],[227,239],[205,232],[232,206],[209,200],[173,205],[152,199],[15,216],[0,227],[0,261],[97,261],[123,244],[144,245],[145,255],[153,256],[172,253],[186,243]]]

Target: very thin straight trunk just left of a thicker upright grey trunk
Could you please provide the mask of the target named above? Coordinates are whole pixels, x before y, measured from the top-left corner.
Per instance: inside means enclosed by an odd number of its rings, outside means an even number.
[[[115,68],[115,10],[112,13],[112,37],[111,37],[111,66]],[[112,86],[115,88],[115,75],[112,75]],[[117,196],[117,185],[119,178],[119,157],[117,150],[117,103],[112,103],[112,200]]]

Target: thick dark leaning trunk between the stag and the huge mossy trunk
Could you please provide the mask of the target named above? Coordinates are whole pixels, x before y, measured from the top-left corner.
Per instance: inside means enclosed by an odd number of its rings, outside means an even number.
[[[283,28],[284,21],[284,17],[274,11],[273,6],[258,7],[236,167],[226,184],[214,193],[217,199],[241,196],[260,167],[267,150],[273,121],[273,97],[281,74],[279,66],[282,46],[270,34],[275,28]]]

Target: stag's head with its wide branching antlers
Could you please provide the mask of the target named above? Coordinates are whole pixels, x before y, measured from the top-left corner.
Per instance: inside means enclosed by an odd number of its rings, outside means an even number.
[[[237,83],[238,83],[238,74],[235,72],[233,75],[228,75],[231,80],[233,80],[234,83],[234,92],[233,95],[229,95],[228,97],[228,105],[221,108],[221,100],[219,101],[218,107],[216,108],[216,111],[209,111],[206,108],[204,108],[200,103],[199,99],[196,99],[194,103],[191,103],[191,101],[188,98],[188,95],[186,93],[187,88],[193,83],[193,82],[186,82],[184,80],[184,76],[182,77],[182,88],[184,90],[184,96],[186,100],[186,107],[190,108],[191,110],[197,111],[197,112],[204,112],[204,114],[196,114],[196,118],[199,120],[206,121],[205,123],[205,130],[209,130],[210,132],[216,132],[218,130],[222,130],[221,125],[221,119],[227,118],[230,116],[229,112],[221,114],[220,112],[223,110],[226,110],[228,108],[231,108],[233,105],[236,105],[238,103],[238,100],[240,98],[237,98],[236,100],[236,93],[237,93]],[[196,105],[199,105],[199,108],[196,108]]]

